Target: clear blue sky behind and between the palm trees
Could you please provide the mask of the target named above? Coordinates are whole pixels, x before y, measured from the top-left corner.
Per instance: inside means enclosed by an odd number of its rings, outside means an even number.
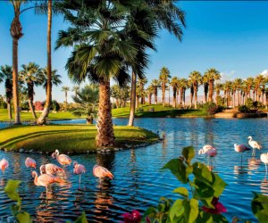
[[[155,40],[156,52],[150,51],[150,63],[146,70],[148,82],[158,78],[163,66],[172,76],[188,78],[193,70],[204,74],[209,68],[222,73],[222,80],[254,77],[268,73],[268,2],[267,1],[180,1],[186,12],[187,28],[182,41],[165,30]],[[10,25],[13,21],[12,4],[0,1],[0,65],[12,64],[12,37]],[[19,66],[37,62],[46,66],[46,15],[37,15],[33,10],[21,14],[22,32],[19,41]],[[63,17],[53,17],[52,43],[57,33],[66,29]],[[53,52],[53,69],[62,76],[63,85],[53,88],[53,98],[63,102],[63,86],[72,87],[64,69],[71,48]],[[202,90],[200,89],[202,95]],[[71,101],[69,93],[68,100]],[[4,85],[0,84],[0,95]],[[42,87],[36,87],[35,100],[45,100]]]

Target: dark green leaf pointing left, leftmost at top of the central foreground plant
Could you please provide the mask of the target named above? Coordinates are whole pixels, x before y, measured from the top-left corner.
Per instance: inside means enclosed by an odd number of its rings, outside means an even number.
[[[192,173],[192,169],[187,167],[180,159],[167,162],[162,169],[170,169],[172,174],[183,184],[188,183],[188,175]]]

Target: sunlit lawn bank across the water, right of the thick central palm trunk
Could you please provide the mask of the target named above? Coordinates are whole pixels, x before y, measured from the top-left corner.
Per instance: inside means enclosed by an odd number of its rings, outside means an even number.
[[[155,111],[148,111],[149,108],[154,107]],[[135,112],[135,117],[138,118],[164,118],[164,117],[204,117],[207,116],[203,110],[180,110],[162,104],[152,105],[140,105],[139,108],[143,108],[143,111]],[[126,118],[130,116],[130,107],[113,109],[113,117]]]

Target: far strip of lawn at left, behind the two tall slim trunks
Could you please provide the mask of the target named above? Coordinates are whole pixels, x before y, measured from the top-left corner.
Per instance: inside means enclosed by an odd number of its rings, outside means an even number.
[[[41,114],[40,112],[37,112],[38,117],[40,116],[40,114]],[[13,118],[14,118],[14,114],[13,114]],[[64,120],[64,119],[77,119],[77,117],[72,115],[71,112],[69,111],[66,111],[66,112],[61,111],[57,113],[50,112],[48,119],[49,120]],[[9,121],[6,109],[0,109],[0,120]],[[21,121],[29,121],[29,120],[34,121],[34,119],[32,118],[31,112],[21,111]]]

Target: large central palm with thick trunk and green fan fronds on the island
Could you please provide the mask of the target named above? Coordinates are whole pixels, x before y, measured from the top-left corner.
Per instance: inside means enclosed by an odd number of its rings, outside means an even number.
[[[65,8],[65,20],[69,21],[71,28],[59,32],[56,45],[74,45],[66,64],[69,77],[74,82],[80,83],[89,78],[98,83],[96,145],[112,146],[114,134],[110,79],[114,78],[122,85],[130,78],[127,66],[134,64],[138,45],[124,34],[128,33],[125,29],[128,12],[135,5],[118,1],[116,4],[108,1],[83,1],[70,5],[67,0],[62,5]],[[80,19],[81,14],[83,20]]]

